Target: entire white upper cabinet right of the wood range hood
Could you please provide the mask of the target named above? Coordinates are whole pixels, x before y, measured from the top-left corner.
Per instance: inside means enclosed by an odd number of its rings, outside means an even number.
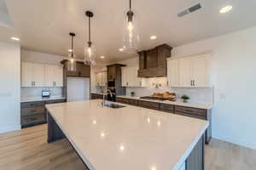
[[[209,88],[210,55],[202,54],[182,59],[169,59],[167,75],[173,88]]]

